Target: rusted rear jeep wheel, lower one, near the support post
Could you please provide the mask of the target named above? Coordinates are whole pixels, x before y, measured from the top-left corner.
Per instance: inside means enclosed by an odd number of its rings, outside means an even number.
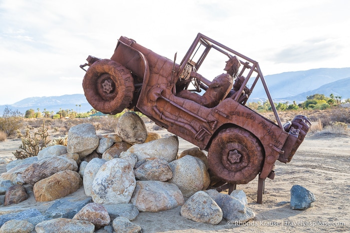
[[[224,181],[246,184],[261,171],[263,149],[249,131],[231,127],[221,130],[209,150],[209,168]]]

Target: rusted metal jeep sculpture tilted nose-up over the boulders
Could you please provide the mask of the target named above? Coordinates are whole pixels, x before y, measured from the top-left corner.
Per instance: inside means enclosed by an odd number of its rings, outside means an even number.
[[[233,88],[230,83],[220,92],[214,106],[204,106],[196,97],[188,99],[180,93],[209,91],[217,86],[201,75],[192,75],[213,50],[225,58],[236,57],[237,78]],[[81,65],[83,69],[90,66],[83,80],[86,98],[103,113],[116,114],[125,108],[140,111],[157,125],[208,151],[209,170],[220,180],[212,187],[218,190],[232,191],[236,184],[246,184],[259,175],[257,202],[261,203],[264,180],[274,178],[275,161],[291,160],[310,120],[297,115],[282,125],[258,62],[203,34],[198,33],[180,64],[175,59],[176,54],[172,61],[121,36],[111,59],[89,56],[88,63]],[[251,77],[255,79],[248,88]],[[259,79],[276,123],[245,106]],[[190,90],[191,86],[195,89]]]

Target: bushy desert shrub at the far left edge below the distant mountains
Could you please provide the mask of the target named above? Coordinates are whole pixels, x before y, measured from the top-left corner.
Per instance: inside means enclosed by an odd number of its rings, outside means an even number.
[[[3,117],[0,117],[0,131],[5,132],[8,137],[16,134],[17,129],[23,125],[22,115],[18,110],[6,106]]]

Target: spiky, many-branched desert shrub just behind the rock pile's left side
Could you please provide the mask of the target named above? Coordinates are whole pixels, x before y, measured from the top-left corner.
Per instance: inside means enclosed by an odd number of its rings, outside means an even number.
[[[43,120],[43,126],[34,135],[31,135],[30,129],[26,128],[26,133],[23,135],[20,130],[17,130],[22,140],[20,149],[13,152],[15,157],[19,159],[37,156],[39,151],[47,147],[50,143],[48,129],[45,127],[45,120]]]

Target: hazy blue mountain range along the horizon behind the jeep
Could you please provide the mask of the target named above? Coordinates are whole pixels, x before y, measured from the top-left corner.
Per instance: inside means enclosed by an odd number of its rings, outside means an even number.
[[[318,68],[304,71],[283,72],[266,75],[269,92],[276,102],[302,102],[306,97],[315,93],[329,96],[350,98],[350,67]],[[249,84],[249,82],[248,82]],[[266,101],[267,96],[260,81],[257,82],[248,101]],[[78,106],[77,106],[78,105]],[[81,105],[81,106],[79,106]],[[58,112],[62,109],[73,109],[77,112],[87,112],[93,107],[88,103],[84,94],[65,94],[61,96],[29,97],[13,104],[0,105],[0,115],[5,107],[25,113],[28,109]]]

